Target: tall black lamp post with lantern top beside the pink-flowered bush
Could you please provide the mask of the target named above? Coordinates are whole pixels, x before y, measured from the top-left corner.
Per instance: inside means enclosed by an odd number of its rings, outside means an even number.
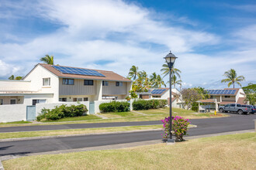
[[[171,68],[173,66],[173,64],[175,63],[175,59],[177,59],[178,57],[176,57],[173,53],[168,53],[167,56],[164,57],[164,59],[166,60],[166,63],[168,63],[168,67],[169,67],[169,82],[170,82],[170,98],[169,98],[169,103],[170,103],[170,121],[169,121],[169,126],[170,126],[170,138],[168,138],[168,143],[174,143],[175,140],[172,139],[172,134],[171,134]]]

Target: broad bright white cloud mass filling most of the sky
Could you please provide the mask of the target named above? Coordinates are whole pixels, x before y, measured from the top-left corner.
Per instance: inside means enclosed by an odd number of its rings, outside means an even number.
[[[230,68],[254,80],[250,72],[252,66],[248,65],[248,61],[255,62],[255,49],[214,55],[196,53],[195,48],[221,46],[220,43],[226,41],[213,33],[177,26],[178,21],[188,22],[187,18],[175,19],[172,16],[166,22],[161,17],[152,17],[157,12],[120,0],[46,0],[32,6],[25,2],[22,4],[26,8],[24,11],[33,7],[33,15],[61,25],[55,32],[36,36],[25,43],[0,42],[0,59],[5,63],[20,61],[22,64],[16,65],[26,72],[48,53],[54,55],[55,63],[60,65],[113,70],[123,76],[126,76],[130,66],[136,65],[148,74],[160,73],[163,57],[168,49],[172,49],[178,56],[175,66],[182,70],[182,80],[187,82],[184,86],[192,87],[213,79],[221,80],[224,71]],[[19,13],[20,9],[17,10],[14,14]],[[254,32],[254,27],[241,29],[233,36],[240,43],[244,39],[252,41],[254,36],[246,36],[248,30]],[[98,63],[100,60],[112,62],[102,65]]]

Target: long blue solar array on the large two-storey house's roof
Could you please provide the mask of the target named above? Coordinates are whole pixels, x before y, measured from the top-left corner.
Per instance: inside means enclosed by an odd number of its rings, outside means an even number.
[[[67,66],[53,66],[53,67],[54,69],[59,70],[61,73],[78,74],[78,75],[86,75],[86,76],[104,76],[102,73],[99,73],[96,70],[73,68],[73,67],[67,67]]]

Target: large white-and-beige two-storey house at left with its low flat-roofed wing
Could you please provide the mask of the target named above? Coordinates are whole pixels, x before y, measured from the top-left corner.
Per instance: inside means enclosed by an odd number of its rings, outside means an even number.
[[[0,105],[122,100],[131,82],[112,71],[39,63],[22,80],[0,80]]]

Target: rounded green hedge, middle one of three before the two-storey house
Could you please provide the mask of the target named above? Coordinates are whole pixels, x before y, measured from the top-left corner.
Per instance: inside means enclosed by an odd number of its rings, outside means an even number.
[[[99,110],[101,112],[126,112],[130,111],[130,103],[112,101],[110,103],[99,104]]]

